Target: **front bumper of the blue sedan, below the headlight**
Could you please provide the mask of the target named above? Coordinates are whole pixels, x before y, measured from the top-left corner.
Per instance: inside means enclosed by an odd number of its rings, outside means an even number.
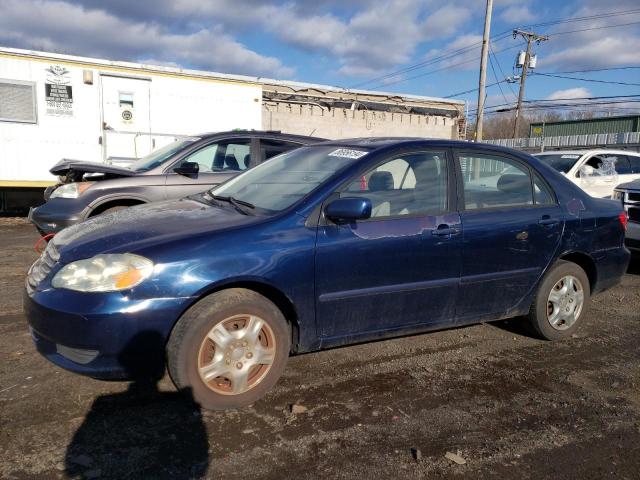
[[[162,375],[171,329],[191,302],[49,289],[25,292],[23,304],[45,358],[82,375],[124,380]]]

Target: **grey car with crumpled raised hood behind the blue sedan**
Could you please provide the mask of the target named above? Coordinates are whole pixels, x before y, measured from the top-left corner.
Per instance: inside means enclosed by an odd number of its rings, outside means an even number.
[[[106,212],[203,192],[282,152],[323,139],[275,131],[235,130],[178,140],[128,167],[62,160],[61,183],[29,219],[41,234]]]

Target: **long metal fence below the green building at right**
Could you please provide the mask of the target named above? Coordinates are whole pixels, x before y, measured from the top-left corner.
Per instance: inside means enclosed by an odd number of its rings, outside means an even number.
[[[589,135],[566,135],[563,137],[501,138],[485,140],[486,143],[510,148],[561,148],[597,147],[604,145],[640,144],[640,132],[593,133]]]

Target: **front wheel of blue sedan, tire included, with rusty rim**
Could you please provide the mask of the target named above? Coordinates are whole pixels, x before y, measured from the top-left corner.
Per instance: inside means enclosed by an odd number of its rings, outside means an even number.
[[[273,302],[232,288],[203,298],[180,318],[167,343],[167,369],[203,408],[239,408],[276,383],[290,345],[287,321]]]

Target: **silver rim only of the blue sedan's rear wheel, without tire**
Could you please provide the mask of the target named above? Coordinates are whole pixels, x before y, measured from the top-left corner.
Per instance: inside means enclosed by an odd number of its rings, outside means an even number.
[[[547,320],[556,330],[567,330],[582,313],[584,289],[573,275],[566,275],[556,282],[547,299]]]

